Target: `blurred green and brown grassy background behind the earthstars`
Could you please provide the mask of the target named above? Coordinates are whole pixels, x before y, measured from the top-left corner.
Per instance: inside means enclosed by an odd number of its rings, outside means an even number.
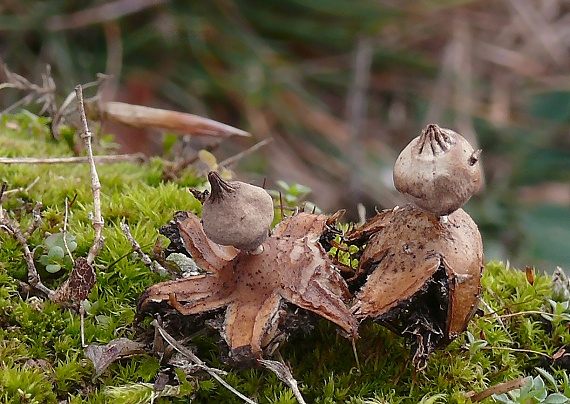
[[[353,220],[358,203],[402,204],[397,154],[427,123],[452,128],[483,149],[466,209],[486,257],[569,272],[569,20],[548,0],[4,0],[0,58],[33,82],[50,64],[59,102],[106,73],[106,99],[252,133],[210,144],[218,160],[273,138],[238,177],[309,186]],[[23,95],[2,90],[0,107]],[[163,153],[156,133],[106,129]]]

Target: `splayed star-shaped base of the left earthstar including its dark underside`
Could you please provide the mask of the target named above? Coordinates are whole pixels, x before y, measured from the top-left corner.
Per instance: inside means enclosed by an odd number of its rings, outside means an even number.
[[[221,336],[221,359],[240,367],[260,364],[289,335],[311,330],[321,318],[358,338],[347,306],[352,295],[321,244],[338,232],[337,217],[297,213],[275,227],[259,254],[249,254],[214,243],[198,216],[177,212],[160,229],[172,241],[168,250],[191,256],[203,272],[146,289],[139,318],[158,311],[173,331],[189,334],[208,325]]]

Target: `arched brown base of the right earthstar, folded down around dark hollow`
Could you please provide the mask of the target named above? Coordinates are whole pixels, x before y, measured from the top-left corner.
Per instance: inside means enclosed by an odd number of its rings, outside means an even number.
[[[442,223],[412,205],[381,212],[363,227],[378,232],[360,259],[359,271],[369,275],[353,313],[416,338],[418,363],[463,332],[477,308],[483,270],[479,230],[462,209]],[[347,239],[362,234],[354,229]]]

